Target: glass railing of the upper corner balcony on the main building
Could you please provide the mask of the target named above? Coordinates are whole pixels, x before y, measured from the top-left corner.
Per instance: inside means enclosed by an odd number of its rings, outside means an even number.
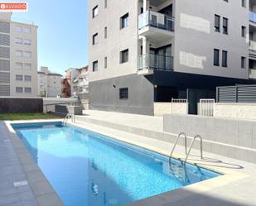
[[[174,31],[174,17],[147,10],[138,16],[138,30],[152,26],[162,30]]]

